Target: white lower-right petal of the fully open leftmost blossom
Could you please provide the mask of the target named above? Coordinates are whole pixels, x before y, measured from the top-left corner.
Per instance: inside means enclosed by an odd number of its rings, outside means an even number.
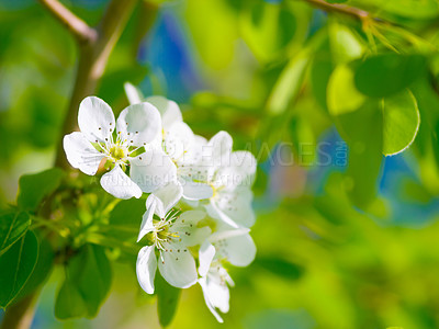
[[[147,147],[144,154],[130,159],[130,163],[132,180],[146,193],[151,193],[177,179],[176,164],[156,147]]]

